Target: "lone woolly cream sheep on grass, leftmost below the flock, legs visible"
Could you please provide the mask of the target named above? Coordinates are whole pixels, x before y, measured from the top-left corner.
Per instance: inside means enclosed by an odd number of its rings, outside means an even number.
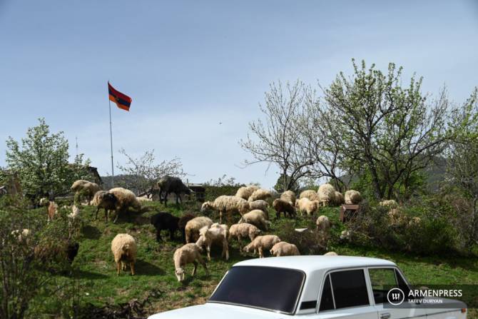
[[[131,268],[131,275],[135,274],[134,264],[136,263],[136,240],[127,233],[118,233],[111,241],[111,252],[116,262],[116,275],[120,270],[126,269],[128,263]]]

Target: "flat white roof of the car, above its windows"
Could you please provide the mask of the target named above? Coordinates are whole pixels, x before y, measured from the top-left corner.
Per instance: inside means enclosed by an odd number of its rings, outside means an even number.
[[[233,267],[245,265],[298,269],[305,273],[336,268],[396,266],[392,261],[380,258],[345,255],[303,255],[243,260],[233,265]]]

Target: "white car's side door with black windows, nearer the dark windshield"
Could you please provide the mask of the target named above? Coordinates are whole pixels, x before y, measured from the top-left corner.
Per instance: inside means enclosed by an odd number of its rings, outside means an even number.
[[[367,290],[365,269],[334,270],[325,275],[317,305],[317,319],[377,319]]]

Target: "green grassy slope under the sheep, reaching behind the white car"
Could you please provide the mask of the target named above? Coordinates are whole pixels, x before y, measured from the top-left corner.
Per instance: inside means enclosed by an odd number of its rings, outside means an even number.
[[[146,304],[147,312],[157,313],[187,305],[204,303],[215,285],[231,265],[252,256],[241,255],[237,243],[231,243],[230,260],[225,262],[220,258],[220,248],[213,250],[212,260],[208,263],[210,276],[206,276],[199,266],[195,278],[190,277],[192,265],[187,270],[184,283],[178,283],[174,275],[173,252],[182,245],[180,234],[176,240],[169,240],[164,232],[163,242],[157,243],[154,228],[149,224],[149,216],[156,211],[170,211],[180,216],[182,210],[176,207],[164,208],[158,203],[148,203],[150,211],[142,214],[120,218],[118,223],[106,223],[103,213],[98,221],[93,221],[94,208],[83,206],[81,213],[85,222],[79,238],[80,250],[73,262],[76,270],[73,276],[78,278],[78,290],[81,303],[91,303],[96,307],[107,304],[127,303],[130,300],[148,297],[151,303]],[[188,211],[197,208],[188,207]],[[270,212],[272,213],[272,211]],[[324,208],[322,212],[334,221],[333,231],[338,233],[343,226],[338,221],[338,208]],[[271,214],[271,216],[273,216]],[[274,218],[273,218],[274,220]],[[296,221],[273,221],[270,233],[274,233],[284,223],[294,223],[295,226],[305,226],[310,221],[298,218]],[[128,272],[116,275],[116,265],[113,261],[110,245],[117,233],[130,233],[138,243],[137,275]],[[395,261],[405,272],[412,283],[478,283],[478,260],[467,258],[447,258],[436,256],[419,258],[402,253],[392,253],[380,249],[357,248],[349,245],[337,245],[330,248],[340,255],[365,255],[386,258]],[[59,305],[65,302],[61,299],[39,295],[35,308],[45,313],[57,313]],[[31,314],[33,315],[33,314]],[[38,318],[33,315],[33,317]],[[51,318],[51,317],[49,317]],[[469,317],[472,318],[472,317]]]

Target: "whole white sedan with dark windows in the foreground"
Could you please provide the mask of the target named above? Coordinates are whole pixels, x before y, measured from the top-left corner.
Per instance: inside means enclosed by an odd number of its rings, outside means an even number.
[[[410,291],[415,290],[389,260],[322,255],[260,258],[233,265],[204,305],[149,319],[467,318],[467,309],[457,300],[441,298],[439,308],[427,303],[428,297],[409,303],[405,295]]]

